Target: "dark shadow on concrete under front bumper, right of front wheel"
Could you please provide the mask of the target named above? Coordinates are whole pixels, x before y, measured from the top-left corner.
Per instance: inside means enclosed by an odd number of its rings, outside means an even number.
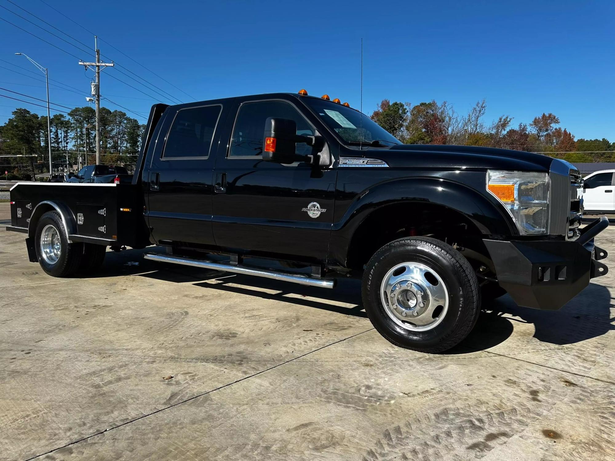
[[[483,305],[472,332],[449,353],[474,352],[498,345],[513,333],[515,323],[533,324],[533,337],[541,342],[582,342],[615,329],[611,318],[614,306],[608,288],[597,283],[590,283],[560,310],[519,307],[510,296],[502,296]]]

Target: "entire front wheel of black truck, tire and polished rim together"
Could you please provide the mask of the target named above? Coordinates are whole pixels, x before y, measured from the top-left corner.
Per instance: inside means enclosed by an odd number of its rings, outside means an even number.
[[[440,240],[400,238],[372,256],[362,284],[365,311],[387,340],[437,353],[464,339],[478,318],[478,280],[466,258]]]

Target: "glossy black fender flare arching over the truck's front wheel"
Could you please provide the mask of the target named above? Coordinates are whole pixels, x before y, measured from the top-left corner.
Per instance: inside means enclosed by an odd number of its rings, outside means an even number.
[[[518,234],[504,207],[472,187],[442,178],[392,179],[357,194],[333,223],[330,261],[333,264],[346,261],[352,235],[360,224],[373,211],[396,203],[431,203],[450,208],[466,216],[483,235]]]

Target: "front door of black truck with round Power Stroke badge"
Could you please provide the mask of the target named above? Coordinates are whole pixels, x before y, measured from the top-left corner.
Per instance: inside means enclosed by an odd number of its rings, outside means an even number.
[[[288,100],[241,100],[227,125],[215,165],[213,234],[216,245],[280,258],[323,261],[333,223],[336,170],[304,163],[265,162],[265,120],[293,119],[297,133],[314,135],[308,120]],[[297,144],[297,153],[311,148]],[[308,210],[310,210],[308,212]]]

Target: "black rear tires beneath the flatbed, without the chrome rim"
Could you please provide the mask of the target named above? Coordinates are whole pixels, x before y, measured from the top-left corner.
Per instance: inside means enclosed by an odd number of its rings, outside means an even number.
[[[55,262],[47,261],[42,254],[41,235],[47,226],[53,226],[55,228],[60,243],[60,252]],[[66,229],[57,211],[47,211],[47,213],[41,216],[36,226],[36,234],[34,234],[34,237],[36,256],[38,256],[42,270],[47,274],[53,277],[70,277],[79,269],[83,253],[83,243],[68,242],[66,239]]]

